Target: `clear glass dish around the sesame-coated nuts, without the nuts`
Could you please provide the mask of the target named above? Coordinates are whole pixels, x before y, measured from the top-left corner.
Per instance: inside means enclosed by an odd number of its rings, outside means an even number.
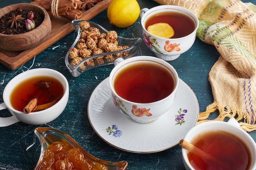
[[[77,37],[76,40],[74,41],[74,43],[72,44],[72,46],[70,47],[70,49],[72,49],[73,47],[76,47],[79,39],[80,39],[80,35],[81,35],[81,29],[79,26],[79,22],[84,21],[84,20],[73,20],[72,24],[77,32]],[[108,31],[106,29],[104,29],[102,26],[100,26],[99,24],[96,24],[94,22],[91,21],[87,21],[90,23],[91,27],[97,28],[99,29],[100,33],[107,33]],[[117,38],[118,41],[118,45],[119,46],[129,46],[129,48],[127,49],[123,49],[123,50],[119,50],[119,51],[113,51],[113,52],[108,52],[108,53],[101,53],[98,55],[92,55],[88,58],[83,59],[81,62],[79,62],[79,64],[76,64],[75,66],[72,66],[71,63],[71,59],[69,57],[69,51],[67,52],[66,56],[65,56],[65,64],[67,66],[67,69],[70,71],[70,73],[74,76],[74,77],[78,77],[81,73],[83,73],[84,71],[90,70],[92,68],[98,67],[98,66],[104,66],[104,65],[109,65],[109,64],[113,64],[114,61],[111,62],[104,62],[103,64],[95,64],[94,66],[86,66],[85,68],[83,66],[83,64],[85,64],[86,62],[88,62],[91,59],[95,59],[97,57],[101,57],[101,56],[106,56],[106,55],[112,55],[112,54],[117,54],[117,53],[126,53],[125,57],[123,57],[124,59],[131,57],[132,55],[135,54],[135,52],[138,50],[142,39],[141,38],[123,38],[118,36]],[[82,68],[82,69],[81,69]]]

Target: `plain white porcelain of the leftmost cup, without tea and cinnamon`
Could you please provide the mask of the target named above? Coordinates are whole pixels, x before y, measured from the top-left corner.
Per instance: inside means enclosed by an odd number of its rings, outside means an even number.
[[[29,114],[25,114],[21,111],[15,110],[10,104],[10,94],[12,93],[13,88],[15,88],[20,82],[24,81],[27,78],[42,76],[42,75],[48,75],[48,76],[54,77],[58,79],[59,82],[61,82],[64,90],[63,97],[61,97],[61,99],[56,104],[54,104],[53,106],[45,110],[31,112]],[[68,97],[69,97],[69,85],[68,85],[67,79],[64,77],[64,75],[62,75],[58,71],[55,71],[49,68],[35,68],[29,71],[20,73],[19,75],[13,77],[13,79],[11,79],[11,81],[4,88],[4,92],[3,92],[4,102],[0,104],[0,110],[8,109],[9,112],[12,114],[12,116],[0,117],[0,127],[9,126],[18,121],[22,121],[26,124],[32,124],[32,125],[48,123],[56,119],[63,112],[64,108],[67,105]]]

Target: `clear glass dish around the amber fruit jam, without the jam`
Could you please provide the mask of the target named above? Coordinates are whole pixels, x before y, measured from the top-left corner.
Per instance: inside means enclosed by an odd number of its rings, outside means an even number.
[[[51,144],[53,144],[54,142],[61,142],[73,148],[79,148],[79,150],[81,150],[81,152],[83,153],[86,159],[90,159],[94,162],[101,163],[104,166],[106,166],[108,170],[126,170],[126,168],[128,167],[127,161],[110,162],[110,161],[101,160],[99,158],[96,158],[90,155],[90,153],[88,153],[79,144],[77,144],[76,141],[74,141],[74,139],[72,139],[69,135],[67,135],[66,133],[60,130],[57,130],[54,128],[40,127],[40,128],[36,128],[34,132],[38,137],[38,139],[40,140],[40,144],[41,144],[40,157],[36,165],[36,168],[34,170],[40,170],[40,168],[42,167],[42,161],[45,154],[45,150],[49,146],[51,146]]]

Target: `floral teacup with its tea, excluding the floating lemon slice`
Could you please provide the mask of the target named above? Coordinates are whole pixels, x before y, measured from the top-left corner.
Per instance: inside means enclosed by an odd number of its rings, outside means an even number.
[[[166,13],[169,14],[166,15]],[[153,18],[157,15],[160,15],[160,18],[156,18],[154,21]],[[167,17],[164,17],[164,15]],[[196,15],[186,8],[175,5],[160,5],[151,9],[144,8],[140,11],[140,17],[143,40],[146,46],[162,60],[177,59],[180,54],[188,51],[195,42],[199,21]],[[147,28],[150,24],[159,22],[170,22],[168,24],[173,27],[174,36],[161,38],[148,32]]]

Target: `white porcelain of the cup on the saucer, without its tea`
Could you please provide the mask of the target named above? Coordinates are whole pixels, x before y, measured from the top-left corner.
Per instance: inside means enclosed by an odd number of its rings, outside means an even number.
[[[165,68],[170,73],[174,81],[174,88],[172,93],[167,97],[165,97],[164,99],[161,99],[156,102],[151,102],[151,103],[130,102],[120,97],[116,93],[115,87],[114,87],[114,82],[117,75],[120,73],[120,71],[125,69],[127,66],[131,66],[132,64],[135,64],[135,63],[145,63],[145,62],[157,64]],[[128,58],[126,60],[123,60],[122,58],[118,58],[115,60],[114,64],[115,64],[115,67],[113,68],[109,76],[109,84],[112,92],[113,102],[121,113],[123,113],[124,115],[126,115],[127,117],[131,118],[132,120],[138,123],[149,123],[151,121],[154,121],[157,117],[166,113],[171,108],[171,105],[174,102],[176,90],[179,84],[179,77],[177,75],[177,72],[175,71],[175,68],[173,68],[171,64],[157,57],[151,57],[151,56],[137,56],[137,57]],[[129,84],[129,82],[127,83]],[[141,109],[141,110],[149,109],[149,112],[151,113],[151,115],[136,116],[135,114],[132,113],[133,106],[137,106],[137,109]]]

